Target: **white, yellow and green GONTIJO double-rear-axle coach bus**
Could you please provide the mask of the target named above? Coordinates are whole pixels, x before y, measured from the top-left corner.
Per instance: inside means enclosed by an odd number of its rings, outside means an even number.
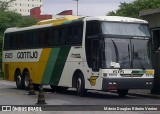
[[[50,85],[53,90],[76,88],[152,89],[151,38],[144,20],[118,17],[66,16],[4,34],[3,72],[6,80],[26,89]]]

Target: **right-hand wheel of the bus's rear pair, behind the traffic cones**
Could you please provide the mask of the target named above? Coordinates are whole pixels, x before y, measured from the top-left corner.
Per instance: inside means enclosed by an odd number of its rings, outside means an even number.
[[[29,72],[25,71],[24,72],[23,86],[24,86],[24,89],[26,89],[26,90],[29,89],[29,80],[30,80]]]

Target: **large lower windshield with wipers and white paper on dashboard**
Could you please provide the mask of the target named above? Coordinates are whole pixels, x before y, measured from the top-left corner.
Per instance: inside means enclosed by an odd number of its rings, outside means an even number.
[[[148,39],[105,38],[102,68],[152,68]]]

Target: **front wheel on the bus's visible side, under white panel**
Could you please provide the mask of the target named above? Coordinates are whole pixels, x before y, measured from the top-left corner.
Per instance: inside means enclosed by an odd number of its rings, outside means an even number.
[[[77,90],[77,94],[81,97],[85,96],[86,94],[84,85],[85,85],[84,77],[82,74],[79,74],[76,79],[76,90]]]

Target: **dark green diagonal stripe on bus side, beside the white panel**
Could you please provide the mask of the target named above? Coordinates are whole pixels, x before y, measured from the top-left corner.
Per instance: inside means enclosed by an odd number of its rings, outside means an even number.
[[[63,69],[64,69],[64,65],[66,63],[66,59],[68,57],[68,53],[70,51],[71,47],[62,47],[59,51],[58,57],[57,57],[57,61],[55,63],[54,69],[52,71],[52,76],[50,79],[50,84],[52,85],[58,85]]]

